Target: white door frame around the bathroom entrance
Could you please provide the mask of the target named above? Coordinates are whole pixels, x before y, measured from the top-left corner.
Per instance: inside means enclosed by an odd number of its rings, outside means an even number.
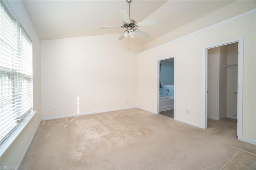
[[[173,119],[175,120],[176,119],[176,114],[175,114],[175,68],[176,68],[176,57],[175,55],[170,55],[169,57],[167,58],[163,58],[163,59],[158,59],[157,60],[157,111],[156,113],[159,114],[160,111],[159,111],[159,97],[160,97],[160,87],[159,87],[159,84],[160,84],[160,61],[162,60],[166,60],[166,59],[170,59],[170,58],[174,58],[174,64],[173,64]]]

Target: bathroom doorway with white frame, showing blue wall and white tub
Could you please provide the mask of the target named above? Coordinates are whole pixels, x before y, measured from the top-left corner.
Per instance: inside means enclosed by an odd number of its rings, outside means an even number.
[[[175,119],[174,57],[158,60],[158,114]]]

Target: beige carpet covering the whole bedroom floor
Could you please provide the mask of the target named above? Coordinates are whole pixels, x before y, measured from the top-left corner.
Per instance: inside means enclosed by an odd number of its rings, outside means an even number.
[[[243,164],[255,158],[255,145],[236,139],[236,120],[208,127],[140,109],[42,121],[21,169],[256,168]]]

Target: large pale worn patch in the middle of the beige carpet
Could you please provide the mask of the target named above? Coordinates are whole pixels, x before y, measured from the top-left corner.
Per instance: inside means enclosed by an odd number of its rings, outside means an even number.
[[[151,133],[150,129],[141,127],[140,123],[136,124],[136,120],[133,119],[130,115],[116,113],[76,119],[76,128],[86,140],[81,142],[80,147],[122,145],[126,140],[134,140]]]

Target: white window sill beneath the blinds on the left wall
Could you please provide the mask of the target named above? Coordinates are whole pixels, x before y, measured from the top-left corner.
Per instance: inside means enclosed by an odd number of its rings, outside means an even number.
[[[0,145],[0,157],[10,147],[12,142],[17,138],[17,136],[20,134],[20,132],[22,132],[22,130],[26,127],[26,125],[29,123],[29,121],[32,119],[32,117],[34,117],[35,114],[36,114],[36,111],[33,111],[32,113],[30,113],[30,115],[25,117],[19,123],[18,127],[12,132],[12,134],[10,134],[10,136],[8,136],[8,138],[6,138],[6,140],[4,140],[4,142],[2,142],[2,144]]]

